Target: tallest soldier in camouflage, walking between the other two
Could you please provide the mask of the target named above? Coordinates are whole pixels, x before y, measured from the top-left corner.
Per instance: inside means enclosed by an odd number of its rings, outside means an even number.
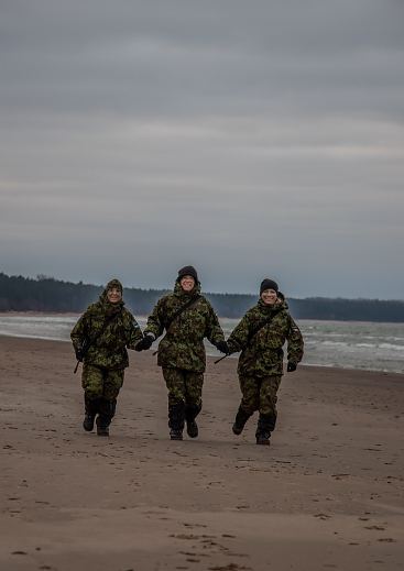
[[[195,419],[201,409],[206,367],[204,338],[222,353],[227,353],[228,348],[211,305],[200,295],[198,275],[193,266],[182,267],[174,292],[157,301],[137,350],[150,349],[164,330],[157,364],[168,389],[170,436],[172,440],[182,440],[186,420],[188,436],[196,438]]]

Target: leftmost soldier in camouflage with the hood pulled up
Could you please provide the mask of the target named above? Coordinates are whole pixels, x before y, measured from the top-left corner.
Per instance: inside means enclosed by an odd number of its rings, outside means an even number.
[[[122,284],[111,279],[99,300],[91,304],[72,330],[77,361],[83,361],[85,418],[83,427],[109,436],[117,398],[129,366],[128,351],[143,338],[142,331],[122,300]]]

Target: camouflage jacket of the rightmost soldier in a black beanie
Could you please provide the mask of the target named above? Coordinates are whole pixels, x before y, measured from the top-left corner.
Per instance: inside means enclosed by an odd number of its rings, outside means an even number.
[[[259,329],[265,319],[270,322]],[[259,331],[254,333],[254,331]],[[228,339],[231,353],[241,351],[240,375],[267,376],[283,374],[283,345],[287,341],[287,360],[298,363],[303,358],[301,330],[287,310],[287,304],[265,306],[260,299],[249,309]]]

